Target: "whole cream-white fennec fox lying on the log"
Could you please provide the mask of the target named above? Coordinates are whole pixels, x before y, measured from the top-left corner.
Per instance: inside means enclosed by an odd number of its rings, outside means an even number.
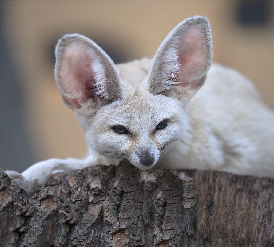
[[[88,156],[7,174],[29,193],[55,172],[121,159],[140,169],[157,164],[274,177],[274,114],[244,76],[211,67],[210,31],[205,17],[185,19],[152,60],[116,66],[90,39],[62,37],[56,84],[85,130]]]

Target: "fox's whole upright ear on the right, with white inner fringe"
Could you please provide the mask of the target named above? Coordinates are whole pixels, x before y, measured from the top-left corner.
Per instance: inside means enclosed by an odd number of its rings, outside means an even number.
[[[205,82],[212,63],[208,20],[194,16],[179,23],[154,56],[148,74],[150,93],[164,93],[188,101]]]

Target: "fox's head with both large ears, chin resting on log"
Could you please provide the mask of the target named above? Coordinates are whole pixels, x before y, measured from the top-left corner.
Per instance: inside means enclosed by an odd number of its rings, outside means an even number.
[[[149,169],[170,142],[187,140],[186,106],[212,62],[205,17],[179,23],[153,60],[115,66],[79,34],[63,36],[55,54],[58,90],[84,128],[90,150]]]

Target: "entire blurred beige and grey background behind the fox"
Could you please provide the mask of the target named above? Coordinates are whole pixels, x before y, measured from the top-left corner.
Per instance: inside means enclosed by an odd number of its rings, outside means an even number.
[[[63,35],[85,35],[121,63],[152,58],[179,22],[206,16],[213,61],[251,79],[274,108],[273,14],[273,1],[1,1],[0,167],[85,157],[84,132],[54,81]]]

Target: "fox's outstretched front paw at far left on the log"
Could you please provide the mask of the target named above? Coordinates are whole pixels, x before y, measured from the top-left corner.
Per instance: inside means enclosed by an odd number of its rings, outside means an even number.
[[[39,190],[42,186],[38,183],[38,179],[31,179],[25,178],[22,174],[16,171],[5,171],[5,173],[13,179],[22,189],[24,189],[30,196],[33,195],[35,192]]]

